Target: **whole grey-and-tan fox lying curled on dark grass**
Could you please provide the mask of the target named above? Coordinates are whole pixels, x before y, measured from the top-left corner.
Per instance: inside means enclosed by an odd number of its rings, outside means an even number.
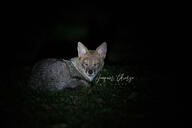
[[[88,50],[78,42],[77,51],[78,56],[69,60],[49,58],[37,62],[32,68],[30,87],[49,91],[91,87],[91,82],[104,66],[107,43],[103,42],[96,50]]]

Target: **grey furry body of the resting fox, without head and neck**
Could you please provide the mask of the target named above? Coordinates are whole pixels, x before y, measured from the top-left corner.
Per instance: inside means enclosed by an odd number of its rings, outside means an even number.
[[[72,61],[46,59],[37,63],[29,80],[29,86],[43,90],[62,90],[77,86],[90,86],[90,81],[74,67]]]

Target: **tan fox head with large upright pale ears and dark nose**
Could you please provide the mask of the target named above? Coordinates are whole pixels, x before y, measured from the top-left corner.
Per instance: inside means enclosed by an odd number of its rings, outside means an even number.
[[[102,43],[96,50],[88,50],[81,42],[78,42],[77,50],[81,72],[92,81],[104,66],[107,43]]]

